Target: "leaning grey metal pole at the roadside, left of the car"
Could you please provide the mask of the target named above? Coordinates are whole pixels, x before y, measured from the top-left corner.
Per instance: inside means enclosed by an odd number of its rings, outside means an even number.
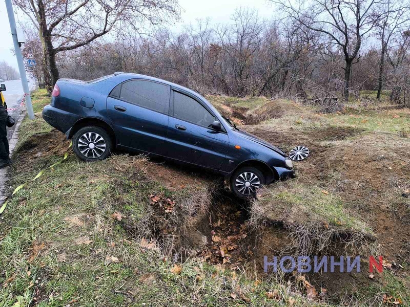
[[[22,78],[23,90],[26,97],[27,113],[29,114],[30,119],[34,119],[33,105],[31,104],[31,96],[29,85],[27,84],[26,69],[24,68],[22,50],[20,49],[20,43],[17,39],[16,20],[14,19],[13,5],[11,4],[11,0],[6,0],[6,8],[7,15],[9,15],[10,30],[14,42],[14,51],[16,53],[18,71],[20,72],[20,77]]]

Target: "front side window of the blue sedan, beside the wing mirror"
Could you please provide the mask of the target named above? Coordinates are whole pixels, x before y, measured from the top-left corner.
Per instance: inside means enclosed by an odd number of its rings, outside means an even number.
[[[187,95],[174,92],[174,117],[210,127],[215,121],[213,116],[198,101]]]

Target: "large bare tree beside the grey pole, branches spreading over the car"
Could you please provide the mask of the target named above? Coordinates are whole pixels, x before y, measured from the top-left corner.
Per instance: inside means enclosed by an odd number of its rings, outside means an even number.
[[[14,0],[38,30],[49,74],[47,88],[59,78],[56,55],[83,47],[119,26],[158,24],[179,16],[176,0]]]

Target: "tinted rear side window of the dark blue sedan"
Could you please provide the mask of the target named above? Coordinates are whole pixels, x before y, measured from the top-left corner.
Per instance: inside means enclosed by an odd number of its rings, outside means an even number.
[[[122,83],[119,99],[164,113],[169,102],[169,89],[161,83],[131,80]]]

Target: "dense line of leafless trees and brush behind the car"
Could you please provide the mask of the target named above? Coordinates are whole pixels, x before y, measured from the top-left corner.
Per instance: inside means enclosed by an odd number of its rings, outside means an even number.
[[[134,72],[199,93],[297,96],[327,104],[368,90],[408,104],[408,0],[272,2],[280,21],[260,20],[254,10],[238,8],[223,25],[198,20],[179,33],[162,27],[150,35],[125,26],[108,39],[60,48],[58,76],[88,80]],[[177,14],[176,6],[167,12]],[[66,45],[80,41],[66,40]]]

